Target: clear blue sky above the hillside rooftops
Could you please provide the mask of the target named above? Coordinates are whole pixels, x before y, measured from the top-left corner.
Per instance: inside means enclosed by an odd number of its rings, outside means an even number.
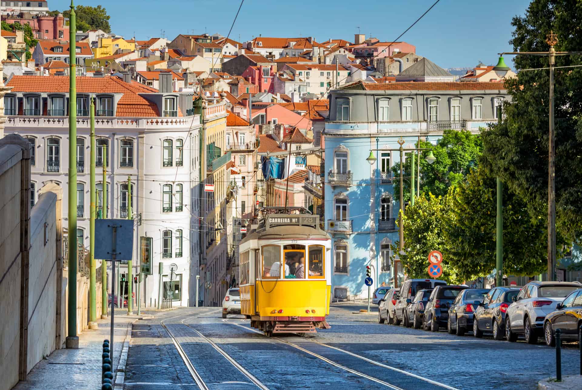
[[[231,33],[234,40],[264,37],[307,37],[317,41],[361,33],[391,41],[424,13],[434,0],[244,0]],[[68,0],[49,0],[51,9],[69,7]],[[180,33],[226,36],[240,0],[100,0],[111,16],[112,31],[139,40]],[[443,68],[495,64],[496,53],[510,51],[510,22],[523,15],[529,0],[441,0],[400,40],[416,45],[418,55]],[[75,4],[96,5],[76,0]]]

